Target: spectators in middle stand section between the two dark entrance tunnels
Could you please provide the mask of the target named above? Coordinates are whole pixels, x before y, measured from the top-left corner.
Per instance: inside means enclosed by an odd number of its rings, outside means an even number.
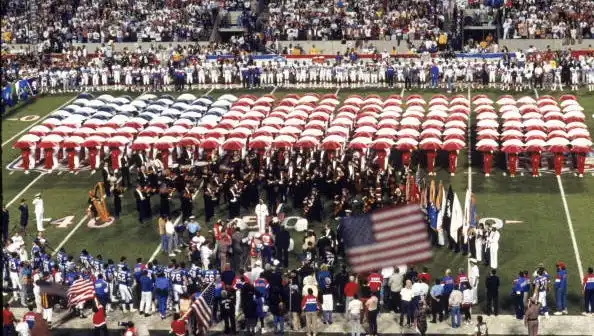
[[[422,1],[271,1],[264,34],[281,40],[418,39],[444,27],[444,5]]]

